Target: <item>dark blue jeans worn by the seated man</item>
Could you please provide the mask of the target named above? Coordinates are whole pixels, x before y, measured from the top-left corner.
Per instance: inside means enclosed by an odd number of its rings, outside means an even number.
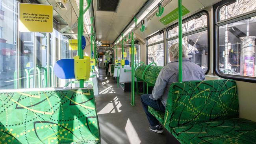
[[[141,95],[141,103],[143,105],[143,109],[147,115],[148,122],[151,126],[156,126],[159,124],[159,121],[148,112],[148,106],[154,108],[157,111],[161,111],[162,113],[165,113],[165,107],[161,103],[161,100],[152,100],[149,98],[150,94],[143,94]]]

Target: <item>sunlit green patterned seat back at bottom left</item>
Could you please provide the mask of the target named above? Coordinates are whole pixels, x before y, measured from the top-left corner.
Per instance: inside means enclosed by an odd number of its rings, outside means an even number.
[[[100,143],[92,89],[13,91],[0,91],[2,144]]]

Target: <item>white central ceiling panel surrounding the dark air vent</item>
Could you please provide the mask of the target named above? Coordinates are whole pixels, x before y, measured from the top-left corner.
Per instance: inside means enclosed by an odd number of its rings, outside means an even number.
[[[147,0],[120,0],[117,12],[96,11],[93,0],[97,40],[112,44]]]

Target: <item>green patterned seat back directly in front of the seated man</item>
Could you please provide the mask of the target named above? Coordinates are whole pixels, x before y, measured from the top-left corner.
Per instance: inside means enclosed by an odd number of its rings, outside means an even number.
[[[162,68],[163,66],[150,66],[145,73],[145,81],[155,85],[156,79]]]

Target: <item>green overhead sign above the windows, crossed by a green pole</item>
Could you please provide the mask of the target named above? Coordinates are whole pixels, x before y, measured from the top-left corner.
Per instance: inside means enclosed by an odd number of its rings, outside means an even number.
[[[186,15],[189,12],[190,11],[186,7],[182,6],[182,16]],[[178,8],[171,11],[171,13],[167,14],[166,16],[161,18],[159,21],[161,23],[163,23],[164,25],[167,25],[167,24],[169,24],[170,22],[173,22],[176,19],[178,19]]]

